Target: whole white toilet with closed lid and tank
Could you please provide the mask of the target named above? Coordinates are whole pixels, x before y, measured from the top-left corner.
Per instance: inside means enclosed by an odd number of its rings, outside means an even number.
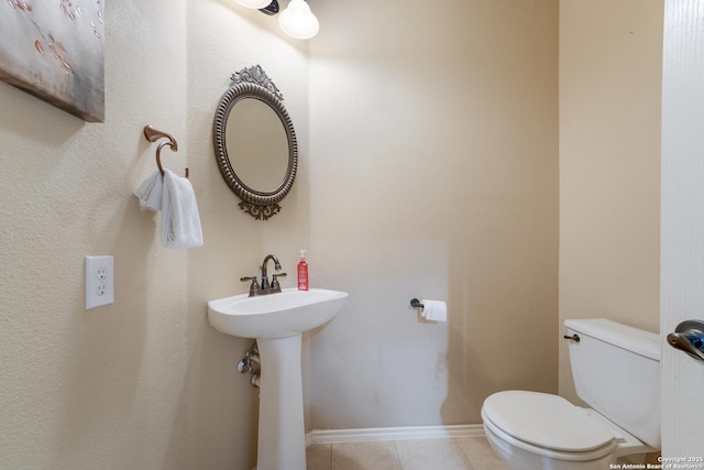
[[[576,394],[507,391],[484,401],[490,444],[510,470],[604,470],[660,449],[660,337],[612,320],[566,320]],[[568,338],[568,337],[565,337]]]

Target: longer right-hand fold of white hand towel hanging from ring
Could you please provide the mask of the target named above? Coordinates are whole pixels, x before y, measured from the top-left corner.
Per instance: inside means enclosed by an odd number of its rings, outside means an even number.
[[[188,178],[164,168],[162,244],[166,248],[202,247],[196,194]]]

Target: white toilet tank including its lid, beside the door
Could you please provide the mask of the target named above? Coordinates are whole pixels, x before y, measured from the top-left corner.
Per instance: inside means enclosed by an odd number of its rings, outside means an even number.
[[[605,318],[566,320],[576,394],[644,444],[660,449],[660,337]]]

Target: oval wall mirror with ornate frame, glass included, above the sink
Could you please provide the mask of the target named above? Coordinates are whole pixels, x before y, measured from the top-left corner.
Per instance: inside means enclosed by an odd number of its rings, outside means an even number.
[[[276,85],[258,65],[232,75],[213,123],[216,159],[224,182],[255,219],[280,211],[298,166],[294,124]]]

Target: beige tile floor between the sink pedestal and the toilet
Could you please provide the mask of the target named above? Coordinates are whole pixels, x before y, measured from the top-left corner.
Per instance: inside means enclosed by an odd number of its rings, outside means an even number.
[[[506,470],[484,437],[314,444],[308,470]]]

